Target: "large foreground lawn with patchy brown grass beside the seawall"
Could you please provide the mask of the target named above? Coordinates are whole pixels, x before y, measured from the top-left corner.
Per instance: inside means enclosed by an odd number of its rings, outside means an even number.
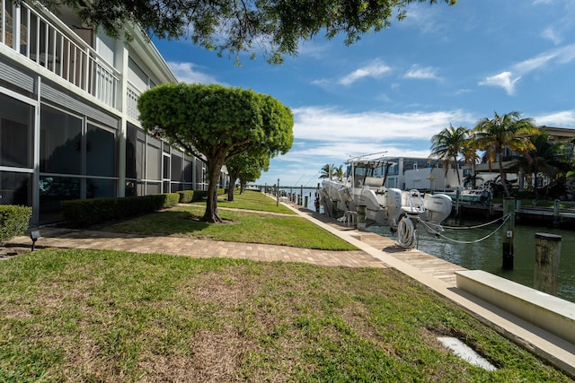
[[[42,249],[0,313],[6,382],[571,381],[394,269]]]

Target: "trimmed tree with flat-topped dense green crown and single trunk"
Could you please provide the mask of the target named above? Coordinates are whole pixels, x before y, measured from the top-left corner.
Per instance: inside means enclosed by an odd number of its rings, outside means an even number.
[[[291,110],[269,95],[211,84],[169,83],[145,91],[137,101],[142,126],[208,163],[204,222],[221,222],[217,181],[224,164],[248,151],[270,157],[286,153],[294,140]]]

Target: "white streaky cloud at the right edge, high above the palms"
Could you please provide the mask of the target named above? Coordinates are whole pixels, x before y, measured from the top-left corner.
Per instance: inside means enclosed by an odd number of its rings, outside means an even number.
[[[508,71],[485,77],[479,85],[499,86],[509,95],[515,93],[517,81],[537,70],[549,70],[553,65],[565,65],[575,59],[575,44],[562,48],[548,50],[532,58],[527,58],[515,65],[511,65]]]

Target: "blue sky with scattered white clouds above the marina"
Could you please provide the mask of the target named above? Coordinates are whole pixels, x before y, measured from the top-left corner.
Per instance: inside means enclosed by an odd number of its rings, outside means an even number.
[[[373,152],[427,157],[432,135],[494,111],[575,128],[575,2],[459,0],[407,11],[350,47],[321,35],[304,41],[284,65],[260,55],[238,67],[189,40],[155,45],[182,82],[249,88],[292,109],[292,149],[258,184],[314,187],[324,164]]]

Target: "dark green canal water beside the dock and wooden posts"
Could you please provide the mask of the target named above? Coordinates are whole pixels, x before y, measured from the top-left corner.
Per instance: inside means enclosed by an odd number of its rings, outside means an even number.
[[[457,220],[455,222],[455,220],[448,219],[444,222],[447,229],[442,233],[448,239],[429,234],[421,228],[418,232],[418,248],[425,253],[469,270],[483,270],[533,287],[535,279],[535,233],[560,235],[562,236],[562,251],[559,263],[557,296],[563,300],[575,302],[575,231],[555,229],[547,226],[517,224],[513,242],[513,269],[506,270],[502,267],[502,230],[494,232],[500,226],[501,221],[481,229],[448,229],[448,227],[473,227],[482,223],[485,222],[473,220]],[[390,232],[389,227],[386,226],[371,226],[367,230],[397,239]],[[475,242],[491,233],[493,233],[491,237]]]

